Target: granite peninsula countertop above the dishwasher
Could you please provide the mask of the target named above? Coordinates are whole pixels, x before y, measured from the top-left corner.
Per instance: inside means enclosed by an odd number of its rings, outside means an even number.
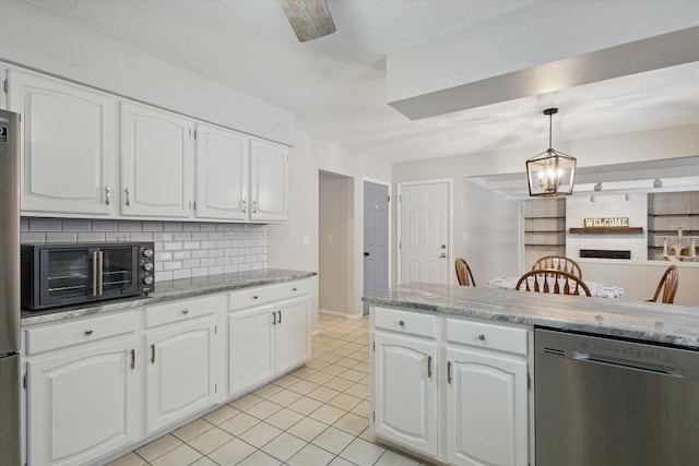
[[[699,307],[423,283],[389,288],[363,300],[699,348]]]

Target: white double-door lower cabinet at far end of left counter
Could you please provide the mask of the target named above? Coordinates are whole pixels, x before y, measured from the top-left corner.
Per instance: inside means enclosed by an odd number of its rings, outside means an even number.
[[[310,283],[229,296],[228,395],[236,396],[310,359]]]

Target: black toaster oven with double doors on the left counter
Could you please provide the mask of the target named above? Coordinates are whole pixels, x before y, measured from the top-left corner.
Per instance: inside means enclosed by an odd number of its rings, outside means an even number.
[[[22,306],[40,310],[155,290],[153,242],[22,244]]]

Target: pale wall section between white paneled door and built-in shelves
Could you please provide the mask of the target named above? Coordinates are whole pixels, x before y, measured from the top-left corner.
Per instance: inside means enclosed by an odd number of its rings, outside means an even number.
[[[477,286],[498,276],[519,275],[519,202],[463,180],[463,238],[457,241]],[[514,260],[514,261],[512,261]]]

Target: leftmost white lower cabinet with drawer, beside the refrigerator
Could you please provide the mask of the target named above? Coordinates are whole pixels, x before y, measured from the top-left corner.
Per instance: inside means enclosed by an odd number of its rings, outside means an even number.
[[[135,322],[127,313],[27,331],[29,465],[91,464],[138,440]]]

